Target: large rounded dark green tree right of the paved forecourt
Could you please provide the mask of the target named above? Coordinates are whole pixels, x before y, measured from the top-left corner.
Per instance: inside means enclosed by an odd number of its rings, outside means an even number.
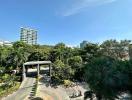
[[[85,80],[90,89],[96,94],[98,100],[114,100],[117,97],[117,83],[120,79],[115,72],[116,61],[110,57],[97,57],[86,64]]]

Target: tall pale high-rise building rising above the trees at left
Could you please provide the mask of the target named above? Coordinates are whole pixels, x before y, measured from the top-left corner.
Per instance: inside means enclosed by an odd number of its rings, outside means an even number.
[[[21,28],[20,40],[27,44],[37,44],[37,31],[30,28]]]

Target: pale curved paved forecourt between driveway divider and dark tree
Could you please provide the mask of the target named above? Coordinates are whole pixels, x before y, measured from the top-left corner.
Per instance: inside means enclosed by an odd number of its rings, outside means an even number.
[[[78,90],[81,90],[82,96],[70,98],[73,92],[78,93]],[[84,89],[84,84],[80,84],[72,88],[65,88],[63,86],[57,86],[55,88],[47,85],[46,82],[41,80],[38,85],[37,96],[43,98],[44,100],[83,100],[83,94],[85,91],[86,89]]]

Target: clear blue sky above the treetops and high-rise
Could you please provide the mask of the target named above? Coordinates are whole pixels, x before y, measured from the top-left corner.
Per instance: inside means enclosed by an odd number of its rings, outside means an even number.
[[[0,40],[19,40],[20,27],[39,44],[132,40],[132,0],[0,0]]]

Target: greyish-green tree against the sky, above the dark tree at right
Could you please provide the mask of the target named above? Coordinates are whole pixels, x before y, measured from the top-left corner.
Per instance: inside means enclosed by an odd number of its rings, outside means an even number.
[[[116,40],[106,40],[101,44],[102,54],[115,59],[125,60],[128,58],[127,53],[130,42],[130,40],[121,40],[120,42]]]

